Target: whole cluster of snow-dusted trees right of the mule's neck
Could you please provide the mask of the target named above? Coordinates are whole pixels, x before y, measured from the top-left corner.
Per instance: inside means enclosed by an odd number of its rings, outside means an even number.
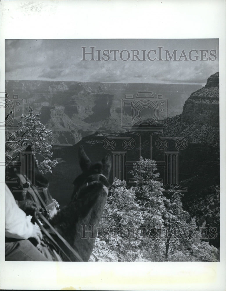
[[[140,157],[130,172],[135,187],[128,189],[125,181],[114,180],[95,260],[217,261],[218,250],[200,242],[195,219],[183,210],[181,192],[171,187],[167,199],[162,183],[155,180],[156,170],[155,161]]]

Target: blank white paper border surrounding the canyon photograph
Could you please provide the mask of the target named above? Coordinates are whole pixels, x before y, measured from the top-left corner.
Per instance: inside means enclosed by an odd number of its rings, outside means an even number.
[[[1,235],[0,288],[225,290],[225,1],[1,1],[1,92],[5,91],[5,39],[29,38],[219,38],[220,262],[5,262]],[[1,149],[4,139],[1,130]],[[4,150],[0,155],[4,234]]]

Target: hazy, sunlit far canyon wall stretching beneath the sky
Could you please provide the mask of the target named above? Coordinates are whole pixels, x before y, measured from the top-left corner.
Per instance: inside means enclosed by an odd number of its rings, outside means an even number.
[[[153,92],[157,99],[161,93],[169,101],[168,116],[173,117],[182,113],[185,100],[201,87],[198,84],[6,80],[10,98],[16,94],[23,98],[24,108],[31,105],[36,112],[41,111],[42,123],[53,131],[55,144],[74,144],[97,130],[127,132],[128,128],[122,126],[125,95]],[[146,113],[142,114],[142,118],[148,118]],[[159,114],[159,118],[165,115]],[[19,120],[20,114],[15,113],[15,125]],[[124,121],[132,127],[130,115],[125,115]]]

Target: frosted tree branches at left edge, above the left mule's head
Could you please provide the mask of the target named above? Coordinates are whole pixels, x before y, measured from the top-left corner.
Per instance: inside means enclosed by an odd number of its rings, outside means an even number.
[[[51,167],[56,166],[57,161],[51,160],[52,131],[47,129],[40,121],[40,112],[33,113],[33,108],[26,108],[28,114],[21,114],[18,129],[7,135],[6,140],[6,164],[13,162],[19,156],[19,152],[31,145],[35,156],[42,161],[38,164],[40,171],[46,174]],[[38,161],[36,161],[38,162]]]

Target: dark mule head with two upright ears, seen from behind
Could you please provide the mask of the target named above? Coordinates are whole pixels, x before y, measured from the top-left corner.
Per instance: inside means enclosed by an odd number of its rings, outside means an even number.
[[[101,162],[92,164],[89,157],[86,155],[82,145],[79,147],[78,160],[80,168],[82,169],[82,174],[79,175],[73,182],[74,191],[72,194],[72,199],[77,197],[77,194],[81,186],[85,182],[100,181],[105,186],[109,187],[109,174],[112,166],[111,156],[107,154]],[[100,175],[101,174],[101,175]]]

